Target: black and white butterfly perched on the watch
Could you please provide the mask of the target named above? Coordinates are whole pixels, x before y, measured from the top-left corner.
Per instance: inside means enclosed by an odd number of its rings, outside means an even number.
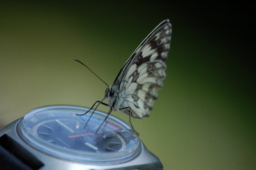
[[[131,124],[131,117],[142,119],[149,115],[153,103],[157,99],[157,91],[163,87],[163,79],[166,77],[164,61],[166,61],[170,49],[171,35],[172,25],[168,19],[164,20],[143,40],[126,61],[113,85],[108,86],[107,84],[105,97],[97,102],[110,107],[108,116],[112,111],[120,110],[129,115]],[[102,102],[105,98],[108,104]],[[92,108],[97,102],[93,104]],[[134,130],[133,127],[132,129]]]

